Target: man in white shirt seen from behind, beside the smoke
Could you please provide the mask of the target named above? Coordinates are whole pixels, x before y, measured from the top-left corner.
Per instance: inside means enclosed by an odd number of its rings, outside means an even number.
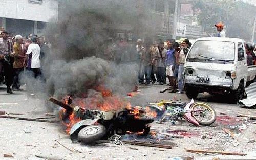
[[[37,44],[37,39],[35,36],[31,37],[32,43],[29,44],[25,61],[24,61],[24,66],[27,67],[27,70],[33,71],[34,77],[37,78],[41,75],[41,65],[40,65],[40,46]]]

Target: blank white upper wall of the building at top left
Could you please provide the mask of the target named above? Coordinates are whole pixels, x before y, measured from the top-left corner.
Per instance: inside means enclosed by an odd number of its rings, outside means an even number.
[[[58,17],[58,1],[43,0],[41,4],[29,0],[0,0],[0,17],[48,22]]]

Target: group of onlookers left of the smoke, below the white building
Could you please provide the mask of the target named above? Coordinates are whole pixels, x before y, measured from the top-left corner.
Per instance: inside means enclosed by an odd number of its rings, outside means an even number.
[[[47,45],[43,37],[29,35],[12,35],[1,28],[0,35],[0,84],[7,85],[7,93],[20,89],[20,74],[32,74],[34,78],[41,77],[41,62]]]

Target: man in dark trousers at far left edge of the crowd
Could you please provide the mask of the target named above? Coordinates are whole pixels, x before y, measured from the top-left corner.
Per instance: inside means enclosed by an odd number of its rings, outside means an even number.
[[[12,46],[8,41],[8,32],[2,31],[0,39],[0,73],[4,70],[5,84],[7,85],[7,93],[12,94],[12,81],[13,81],[13,62],[14,59],[11,55]]]

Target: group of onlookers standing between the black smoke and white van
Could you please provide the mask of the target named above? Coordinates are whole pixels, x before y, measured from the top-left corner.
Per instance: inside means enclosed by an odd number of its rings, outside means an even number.
[[[142,40],[138,39],[136,50],[140,59],[139,84],[158,82],[159,85],[164,85],[167,78],[170,85],[169,92],[176,92],[178,83],[178,93],[183,93],[184,63],[190,47],[191,43],[188,39],[181,44],[174,39],[169,40],[166,46],[163,41],[158,44],[152,45],[148,42],[143,45]]]

